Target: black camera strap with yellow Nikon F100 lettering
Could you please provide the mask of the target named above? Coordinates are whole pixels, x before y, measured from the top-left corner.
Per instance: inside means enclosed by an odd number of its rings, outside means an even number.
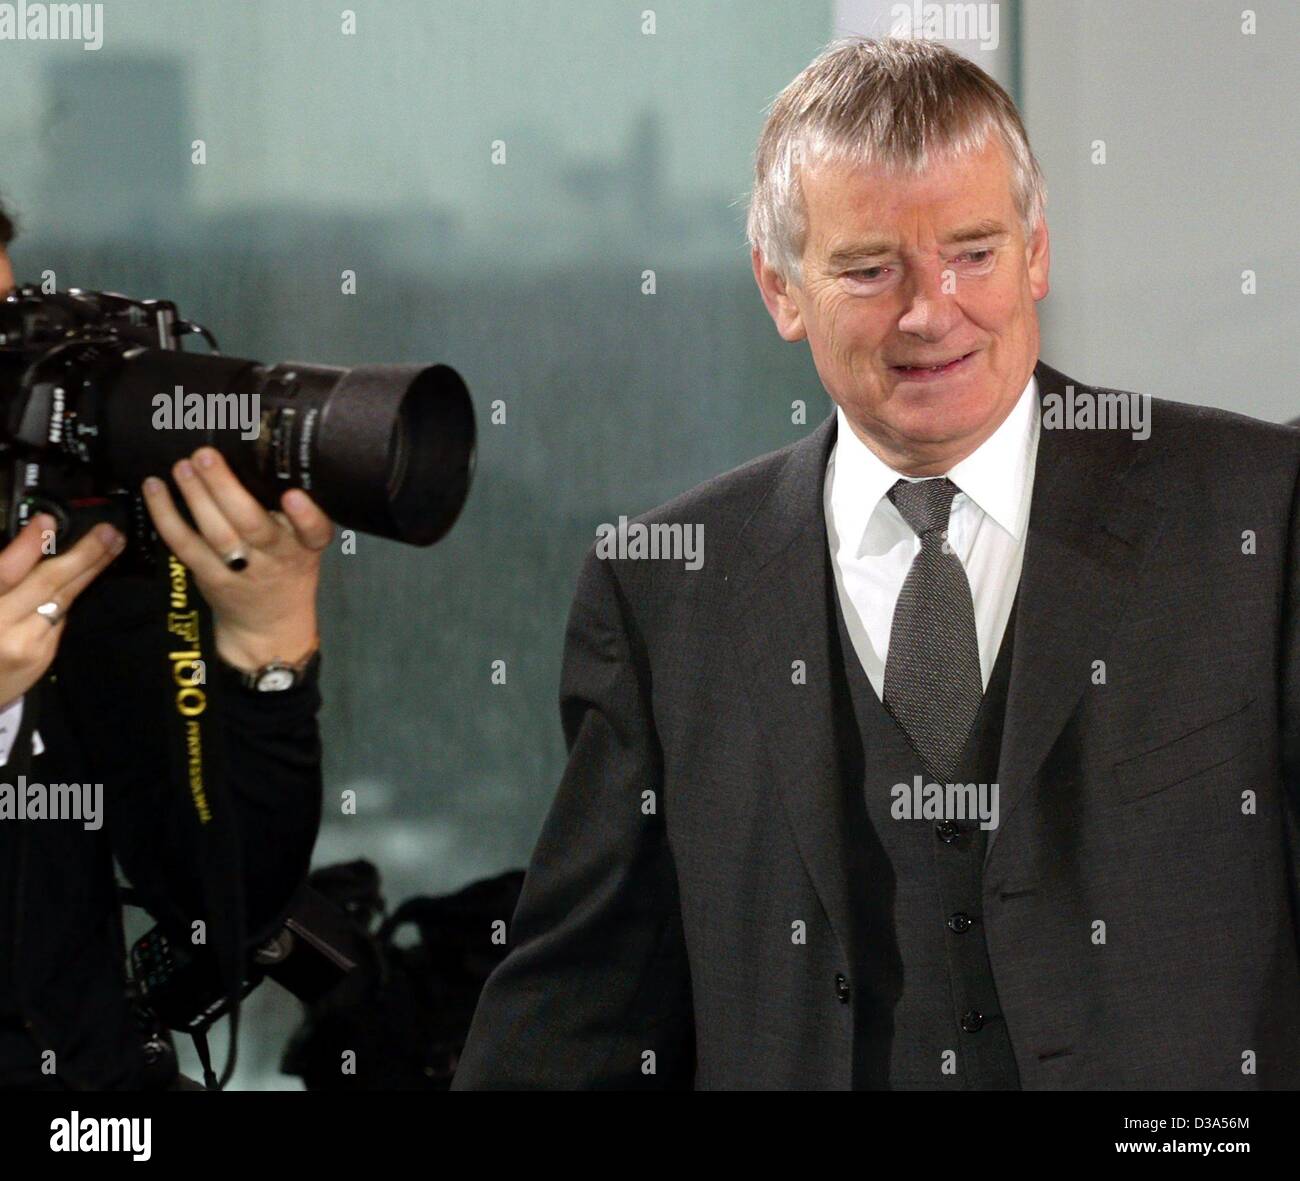
[[[212,610],[179,558],[162,550],[157,567],[166,610],[153,613],[161,620],[161,626],[155,624],[159,645],[153,658],[159,662],[157,680],[166,692],[172,780],[188,797],[185,825],[203,883],[204,934],[230,1013],[230,1046],[220,1080],[212,1073],[207,1047],[199,1046],[204,1081],[220,1090],[235,1068],[247,935],[239,839],[222,766],[220,678],[207,675],[217,658]]]

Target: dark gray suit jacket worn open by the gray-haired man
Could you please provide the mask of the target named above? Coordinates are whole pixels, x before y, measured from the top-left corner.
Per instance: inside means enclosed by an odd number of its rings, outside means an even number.
[[[1297,1087],[1300,431],[1150,412],[1145,441],[1041,433],[989,956],[1026,1089]],[[703,524],[702,570],[588,555],[569,762],[456,1087],[862,1077],[852,982],[879,948],[831,721],[835,431],[638,519]]]

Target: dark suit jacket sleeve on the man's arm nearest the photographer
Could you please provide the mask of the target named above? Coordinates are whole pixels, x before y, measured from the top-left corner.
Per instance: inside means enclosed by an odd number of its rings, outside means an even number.
[[[568,765],[454,1087],[684,1087],[690,979],[649,661],[588,554],[560,683]]]

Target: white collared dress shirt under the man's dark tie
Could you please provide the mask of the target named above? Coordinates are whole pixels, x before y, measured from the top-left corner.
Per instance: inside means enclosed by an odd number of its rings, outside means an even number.
[[[838,410],[838,429],[826,466],[823,502],[840,610],[858,659],[884,700],[885,659],[894,605],[920,538],[885,494],[898,480]],[[971,584],[979,665],[988,688],[1015,601],[1039,450],[1039,394],[1031,376],[1002,424],[945,472],[953,497],[948,541]]]

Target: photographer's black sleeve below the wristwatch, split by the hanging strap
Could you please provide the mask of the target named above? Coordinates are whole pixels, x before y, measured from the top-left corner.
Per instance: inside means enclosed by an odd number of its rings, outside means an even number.
[[[60,652],[58,697],[84,762],[66,773],[103,782],[113,855],[150,913],[188,938],[190,922],[203,916],[203,884],[194,804],[170,766],[169,691],[146,657],[147,618],[100,618],[66,635]],[[218,682],[224,795],[238,834],[247,934],[263,942],[306,878],[320,827],[320,693],[313,683],[257,693],[216,659],[207,678]]]

